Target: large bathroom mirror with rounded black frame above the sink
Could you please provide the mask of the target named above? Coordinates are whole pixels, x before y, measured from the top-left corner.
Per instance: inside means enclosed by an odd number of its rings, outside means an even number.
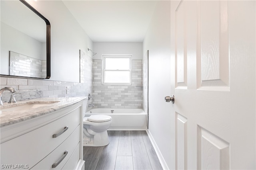
[[[50,78],[50,22],[25,0],[0,0],[1,76]]]

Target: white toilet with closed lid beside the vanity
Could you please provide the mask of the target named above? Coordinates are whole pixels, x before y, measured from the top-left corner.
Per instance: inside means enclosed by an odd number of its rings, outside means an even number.
[[[102,147],[109,144],[108,128],[112,117],[108,115],[90,115],[84,117],[84,142],[83,146]]]

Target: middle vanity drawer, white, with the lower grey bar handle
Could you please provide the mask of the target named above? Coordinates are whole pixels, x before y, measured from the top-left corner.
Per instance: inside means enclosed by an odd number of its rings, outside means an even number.
[[[38,162],[32,170],[60,170],[68,162],[80,141],[80,125],[59,147],[53,150],[43,160]],[[80,148],[80,147],[79,147]],[[67,152],[66,152],[67,151]],[[63,158],[63,159],[62,159]],[[78,162],[79,157],[77,158]],[[55,164],[56,167],[52,167]]]

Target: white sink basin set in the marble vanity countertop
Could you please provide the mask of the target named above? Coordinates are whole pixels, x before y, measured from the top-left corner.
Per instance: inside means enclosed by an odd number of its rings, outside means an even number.
[[[24,104],[12,104],[9,106],[2,106],[0,108],[1,111],[21,111],[21,110],[28,110],[28,109],[35,109],[38,107],[47,107],[50,104],[56,103],[59,101],[49,101],[49,102],[26,102]]]

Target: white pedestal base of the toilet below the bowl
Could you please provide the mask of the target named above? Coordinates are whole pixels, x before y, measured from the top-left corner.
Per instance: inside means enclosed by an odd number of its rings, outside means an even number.
[[[109,144],[108,132],[104,131],[97,133],[93,137],[87,137],[84,134],[83,146],[84,147],[103,147]]]

